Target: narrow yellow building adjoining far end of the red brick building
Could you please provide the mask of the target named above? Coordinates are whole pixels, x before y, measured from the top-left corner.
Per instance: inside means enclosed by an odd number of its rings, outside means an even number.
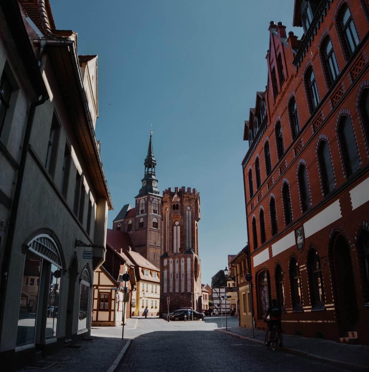
[[[240,326],[245,328],[252,328],[252,311],[249,282],[247,282],[245,279],[245,275],[249,272],[248,254],[249,246],[247,245],[245,248],[242,249],[242,251],[240,251],[239,254],[236,255],[236,257],[232,259],[230,264],[232,266],[235,266],[236,268],[236,286],[239,287]]]

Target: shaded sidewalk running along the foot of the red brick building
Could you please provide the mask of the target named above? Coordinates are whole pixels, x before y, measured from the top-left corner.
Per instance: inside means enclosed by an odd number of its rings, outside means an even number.
[[[255,330],[255,339],[252,329],[249,328],[228,327],[228,331],[224,328],[216,331],[264,344],[264,331]],[[283,350],[288,353],[318,359],[350,371],[369,371],[369,346],[366,345],[341,344],[336,341],[284,334],[283,346]]]

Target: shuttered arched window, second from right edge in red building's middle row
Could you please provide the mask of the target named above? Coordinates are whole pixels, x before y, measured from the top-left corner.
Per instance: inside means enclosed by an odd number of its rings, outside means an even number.
[[[354,131],[351,120],[348,116],[341,116],[337,130],[340,139],[344,168],[347,177],[349,177],[360,169],[360,160],[359,154],[357,153]]]

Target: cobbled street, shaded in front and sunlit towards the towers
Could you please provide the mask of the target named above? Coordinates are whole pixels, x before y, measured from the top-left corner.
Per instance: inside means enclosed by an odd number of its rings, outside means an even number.
[[[230,327],[237,326],[236,317],[228,320]],[[117,372],[148,368],[152,372],[207,371],[227,369],[230,365],[232,371],[345,371],[282,350],[266,350],[258,343],[215,332],[218,327],[220,317],[186,323],[139,319],[136,329],[126,330],[126,337],[133,340]],[[98,333],[94,330],[94,335]]]

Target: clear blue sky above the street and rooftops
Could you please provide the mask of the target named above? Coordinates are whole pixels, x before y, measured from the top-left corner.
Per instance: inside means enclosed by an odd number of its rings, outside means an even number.
[[[243,123],[266,85],[269,21],[292,28],[294,1],[50,0],[56,27],[98,54],[97,139],[114,211],[134,205],[150,124],[162,191],[201,196],[202,282],[247,243]]]

